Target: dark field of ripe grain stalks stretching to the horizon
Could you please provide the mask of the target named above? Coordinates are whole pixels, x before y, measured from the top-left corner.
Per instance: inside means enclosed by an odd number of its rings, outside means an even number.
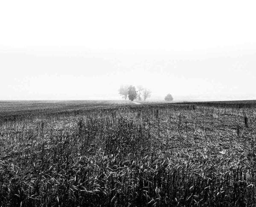
[[[256,206],[256,101],[0,102],[0,206]]]

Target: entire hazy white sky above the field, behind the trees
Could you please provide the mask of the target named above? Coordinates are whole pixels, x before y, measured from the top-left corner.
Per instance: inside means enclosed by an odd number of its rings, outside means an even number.
[[[255,1],[0,1],[0,99],[256,99]]]

